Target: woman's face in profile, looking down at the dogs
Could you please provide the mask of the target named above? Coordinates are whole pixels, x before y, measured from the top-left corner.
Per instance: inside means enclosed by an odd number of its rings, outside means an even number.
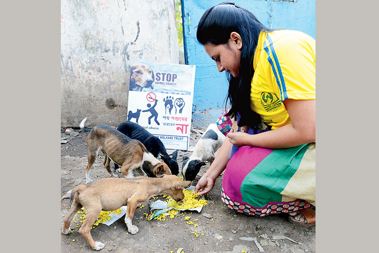
[[[228,47],[229,45],[229,47]],[[229,39],[226,44],[213,45],[207,43],[204,45],[207,54],[216,62],[219,72],[226,71],[234,77],[238,77],[240,72],[241,49],[238,43]]]

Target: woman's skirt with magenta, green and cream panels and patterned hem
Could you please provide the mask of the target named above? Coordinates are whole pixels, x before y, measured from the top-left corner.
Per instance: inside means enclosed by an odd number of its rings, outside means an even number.
[[[315,146],[240,147],[227,163],[222,201],[239,213],[258,217],[315,206]]]

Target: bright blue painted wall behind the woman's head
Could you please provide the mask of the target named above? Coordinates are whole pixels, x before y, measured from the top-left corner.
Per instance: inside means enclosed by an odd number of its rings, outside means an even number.
[[[224,109],[228,82],[219,73],[196,39],[203,13],[222,0],[182,0],[183,36],[186,64],[196,65],[193,126],[207,128]],[[291,29],[316,38],[315,0],[235,0],[235,4],[251,11],[264,25],[273,29]]]

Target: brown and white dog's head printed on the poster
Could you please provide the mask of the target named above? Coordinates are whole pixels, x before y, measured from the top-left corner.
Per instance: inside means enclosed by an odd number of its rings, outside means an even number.
[[[146,64],[133,64],[130,67],[129,91],[140,92],[143,88],[154,89],[154,72]]]

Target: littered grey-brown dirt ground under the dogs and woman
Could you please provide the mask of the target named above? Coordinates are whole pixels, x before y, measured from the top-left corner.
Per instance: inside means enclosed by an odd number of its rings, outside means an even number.
[[[61,138],[68,138],[67,143],[61,144],[61,195],[79,184],[85,183],[85,167],[87,165],[86,138],[88,132],[81,132],[74,129],[79,135],[71,136],[62,129]],[[189,150],[193,150],[195,144],[200,139],[205,130],[192,129]],[[172,153],[173,150],[167,150]],[[101,152],[100,152],[101,153]],[[182,156],[191,155],[191,151],[178,151],[179,172],[181,172]],[[106,178],[110,175],[104,165],[104,156],[99,155],[92,166],[92,179]],[[113,165],[111,165],[113,166]],[[209,162],[204,166],[193,185],[196,185],[200,177],[209,168]],[[122,176],[122,175],[121,175]],[[148,221],[143,216],[150,214],[148,200],[143,208],[137,208],[134,214],[133,223],[139,228],[135,235],[126,234],[127,228],[124,217],[117,220],[110,226],[100,224],[91,229],[91,235],[95,241],[101,241],[105,248],[101,251],[111,251],[116,253],[126,252],[177,252],[179,248],[187,252],[260,252],[254,241],[246,241],[240,237],[256,237],[264,252],[315,252],[315,227],[300,227],[287,220],[288,215],[269,215],[262,218],[251,217],[237,213],[227,208],[221,201],[220,191],[222,175],[216,180],[215,187],[205,198],[208,205],[204,206],[201,213],[183,212],[185,216],[191,216],[191,220],[198,227],[186,224],[184,216],[177,216],[166,221]],[[161,198],[163,200],[163,198]],[[212,205],[213,204],[213,205]],[[61,228],[63,219],[69,208],[61,207]],[[211,214],[214,221],[202,216]],[[71,228],[75,228],[79,223],[79,217],[75,215],[75,221],[71,222]],[[175,224],[177,223],[177,224]],[[87,241],[79,234],[78,228],[68,235],[61,234],[61,252],[94,252]],[[197,230],[199,237],[194,236]],[[200,235],[201,233],[204,236]],[[288,239],[273,240],[272,236],[287,236],[297,243]],[[243,251],[244,250],[244,251]]]

